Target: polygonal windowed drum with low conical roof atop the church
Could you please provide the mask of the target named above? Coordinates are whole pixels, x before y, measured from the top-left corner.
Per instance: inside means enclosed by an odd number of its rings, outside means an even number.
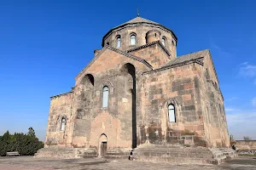
[[[148,34],[149,31],[155,33]],[[152,38],[153,35],[155,38]],[[109,45],[126,51],[143,46],[153,40],[162,42],[168,51],[176,56],[177,37],[174,32],[166,26],[140,16],[108,31],[102,38],[102,47]]]

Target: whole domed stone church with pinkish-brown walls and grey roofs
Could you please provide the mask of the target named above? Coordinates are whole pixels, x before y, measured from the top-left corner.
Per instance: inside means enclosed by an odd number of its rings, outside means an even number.
[[[177,56],[175,33],[140,16],[113,27],[71,91],[50,97],[44,144],[92,157],[147,144],[229,148],[210,51]]]

